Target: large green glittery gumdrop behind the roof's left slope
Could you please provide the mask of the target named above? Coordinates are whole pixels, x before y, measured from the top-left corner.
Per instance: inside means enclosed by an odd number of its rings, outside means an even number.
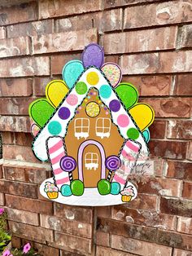
[[[54,113],[55,108],[46,99],[37,99],[29,105],[28,113],[37,126],[44,126],[46,121]]]

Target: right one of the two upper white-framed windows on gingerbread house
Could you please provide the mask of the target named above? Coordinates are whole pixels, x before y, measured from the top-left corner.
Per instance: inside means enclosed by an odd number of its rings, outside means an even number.
[[[111,120],[109,118],[99,117],[96,121],[96,135],[109,138],[111,131]]]

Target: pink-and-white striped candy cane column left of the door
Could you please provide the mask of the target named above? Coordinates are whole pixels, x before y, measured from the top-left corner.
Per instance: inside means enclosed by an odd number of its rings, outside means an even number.
[[[70,184],[72,174],[63,171],[60,167],[61,158],[66,154],[63,139],[59,136],[50,137],[47,141],[47,147],[56,185]]]

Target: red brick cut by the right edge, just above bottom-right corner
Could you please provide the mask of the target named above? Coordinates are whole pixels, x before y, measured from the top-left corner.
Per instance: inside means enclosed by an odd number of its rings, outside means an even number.
[[[158,230],[157,232],[157,242],[159,244],[181,249],[192,250],[191,238],[192,236],[187,236],[181,233],[165,232],[163,230]]]

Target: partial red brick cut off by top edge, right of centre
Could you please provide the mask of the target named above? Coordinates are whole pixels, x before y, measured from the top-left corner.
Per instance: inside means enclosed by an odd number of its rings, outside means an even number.
[[[104,8],[114,8],[114,7],[124,7],[129,5],[148,3],[148,2],[158,2],[159,0],[104,0]]]

